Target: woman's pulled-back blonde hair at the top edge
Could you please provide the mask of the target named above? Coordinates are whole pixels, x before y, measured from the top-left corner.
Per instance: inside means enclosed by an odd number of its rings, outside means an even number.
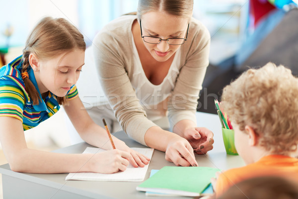
[[[164,11],[180,17],[191,17],[193,0],[139,0],[138,18],[149,11]]]

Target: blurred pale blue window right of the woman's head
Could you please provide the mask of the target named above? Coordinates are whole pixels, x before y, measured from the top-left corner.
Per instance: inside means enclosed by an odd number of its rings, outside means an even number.
[[[248,0],[194,0],[193,16],[210,31],[210,63],[234,55],[245,32]]]

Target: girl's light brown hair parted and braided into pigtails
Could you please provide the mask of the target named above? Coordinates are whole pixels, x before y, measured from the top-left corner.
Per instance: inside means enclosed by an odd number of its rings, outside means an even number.
[[[23,49],[22,73],[29,67],[29,55],[38,59],[51,59],[63,52],[75,48],[85,51],[86,44],[78,29],[64,18],[44,17],[32,30]],[[24,79],[26,91],[33,104],[38,104],[40,97],[29,78]],[[59,104],[66,103],[66,97],[57,97]]]

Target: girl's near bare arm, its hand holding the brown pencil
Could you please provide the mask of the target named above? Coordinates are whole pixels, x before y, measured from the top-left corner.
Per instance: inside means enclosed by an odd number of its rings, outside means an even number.
[[[98,154],[60,154],[27,148],[22,122],[14,117],[0,117],[0,141],[12,171],[27,173],[124,171],[130,154],[111,150]],[[42,132],[41,132],[42,133]]]

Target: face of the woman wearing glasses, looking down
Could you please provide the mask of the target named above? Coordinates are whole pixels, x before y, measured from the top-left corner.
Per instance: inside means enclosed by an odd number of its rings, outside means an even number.
[[[142,36],[186,38],[188,20],[187,17],[177,17],[162,11],[146,12],[141,16]],[[168,60],[181,46],[169,45],[165,40],[161,40],[159,44],[150,44],[144,40],[143,43],[151,56],[159,62]]]

